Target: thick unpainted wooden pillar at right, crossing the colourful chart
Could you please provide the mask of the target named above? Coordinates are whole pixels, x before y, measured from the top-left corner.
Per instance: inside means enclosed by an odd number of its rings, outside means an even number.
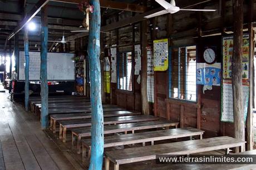
[[[235,138],[245,140],[242,93],[243,0],[233,0],[234,46],[232,57],[232,89]],[[238,152],[238,148],[235,149]]]

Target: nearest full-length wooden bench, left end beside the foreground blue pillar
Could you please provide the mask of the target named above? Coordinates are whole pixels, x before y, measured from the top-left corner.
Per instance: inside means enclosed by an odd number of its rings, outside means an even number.
[[[105,152],[105,169],[109,170],[110,161],[115,164],[115,170],[118,170],[120,164],[156,159],[156,155],[159,154],[186,155],[219,149],[229,151],[229,148],[234,147],[241,147],[241,151],[244,152],[245,143],[232,137],[223,136],[107,151]]]

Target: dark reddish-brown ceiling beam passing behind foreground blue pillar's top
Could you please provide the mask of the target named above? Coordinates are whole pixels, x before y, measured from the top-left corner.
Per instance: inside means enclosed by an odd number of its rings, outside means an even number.
[[[51,1],[63,2],[63,3],[73,3],[73,4],[79,4],[79,3],[83,2],[81,0],[51,0]],[[88,0],[85,2],[88,2]],[[118,9],[118,10],[131,11],[131,12],[140,12],[140,13],[146,11],[145,6],[141,6],[138,4],[132,4],[132,3],[109,1],[109,0],[100,0],[100,6],[102,8],[111,8],[111,9]]]

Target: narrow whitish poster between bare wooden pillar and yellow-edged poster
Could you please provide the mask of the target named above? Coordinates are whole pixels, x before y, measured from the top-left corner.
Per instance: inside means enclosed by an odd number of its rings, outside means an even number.
[[[154,103],[154,70],[151,47],[147,47],[147,101]]]

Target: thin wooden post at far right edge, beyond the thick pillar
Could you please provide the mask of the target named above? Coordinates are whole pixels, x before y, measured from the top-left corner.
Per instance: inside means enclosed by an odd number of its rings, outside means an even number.
[[[250,0],[249,5],[249,102],[248,102],[248,113],[247,113],[247,151],[253,150],[253,57],[254,57],[254,31],[253,31],[253,0]]]

